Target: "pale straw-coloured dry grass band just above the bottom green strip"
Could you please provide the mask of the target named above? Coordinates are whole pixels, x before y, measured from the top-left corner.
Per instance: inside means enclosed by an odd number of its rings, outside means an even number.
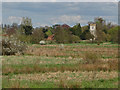
[[[63,81],[74,81],[74,82],[82,82],[82,81],[91,81],[91,80],[99,80],[99,79],[112,79],[118,78],[118,72],[104,72],[104,71],[65,71],[65,72],[46,72],[46,73],[34,73],[34,74],[18,74],[14,75],[10,80],[30,80],[30,81],[54,81],[55,83],[62,83]]]

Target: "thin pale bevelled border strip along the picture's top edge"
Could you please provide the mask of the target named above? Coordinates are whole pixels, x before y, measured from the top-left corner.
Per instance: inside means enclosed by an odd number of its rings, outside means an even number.
[[[4,0],[3,2],[118,2],[119,0]]]

